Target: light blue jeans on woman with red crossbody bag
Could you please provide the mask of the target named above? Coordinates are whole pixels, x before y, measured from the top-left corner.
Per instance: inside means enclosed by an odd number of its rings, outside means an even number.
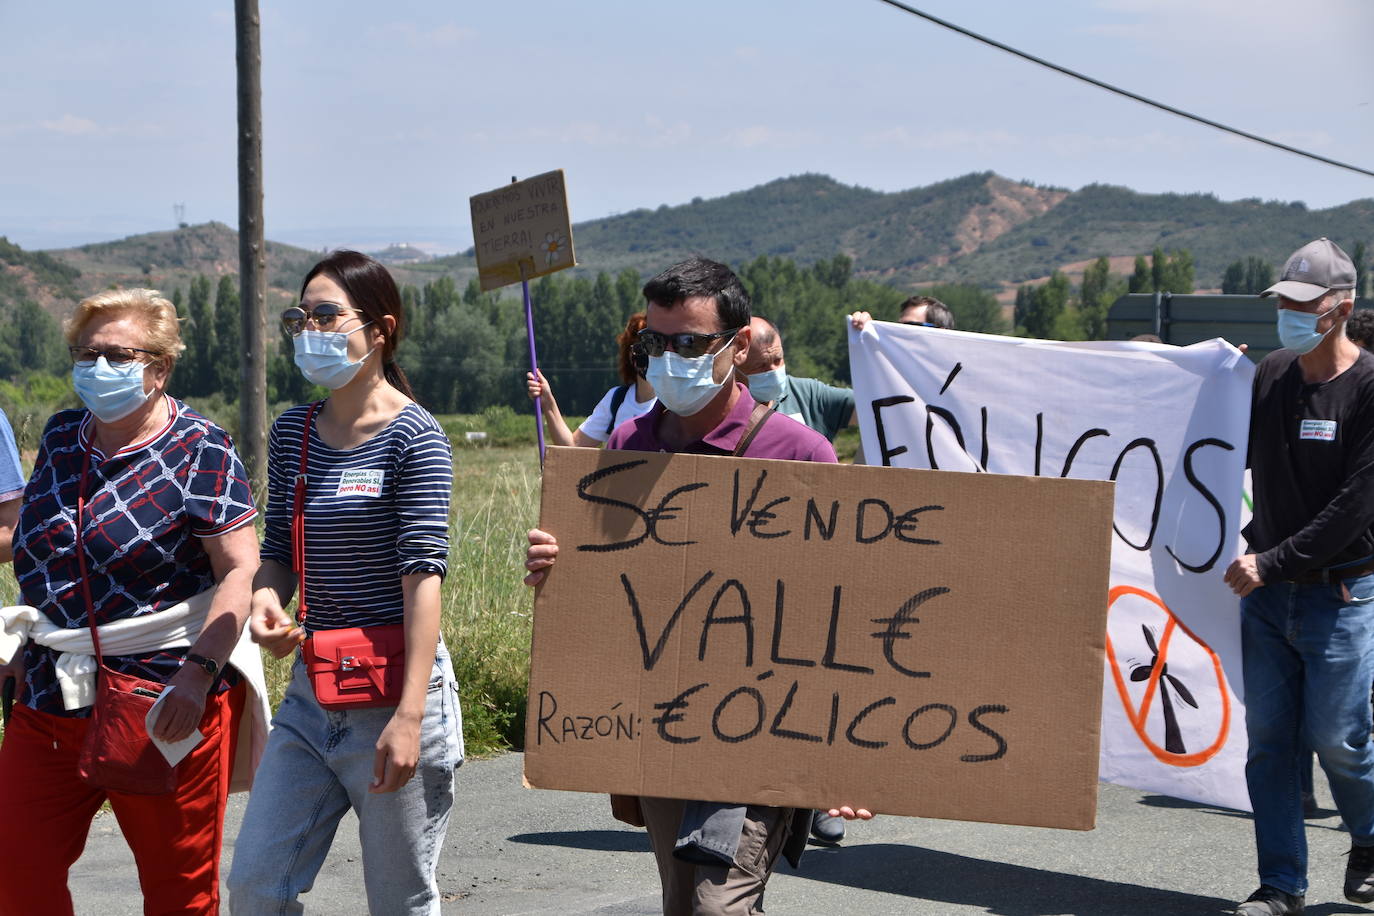
[[[357,812],[368,912],[440,912],[434,873],[453,808],[453,769],[463,762],[458,685],[442,644],[425,702],[415,776],[396,792],[374,795],[367,788],[376,739],[392,713],[322,709],[297,658],[234,843],[231,913],[305,912],[297,897],[313,886],[349,808]]]

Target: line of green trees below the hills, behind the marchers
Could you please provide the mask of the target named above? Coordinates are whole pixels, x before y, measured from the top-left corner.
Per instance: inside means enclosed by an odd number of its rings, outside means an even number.
[[[1364,244],[1352,255],[1364,277]],[[837,254],[804,265],[786,257],[761,255],[736,266],[756,314],[778,325],[793,375],[849,385],[849,356],[844,314],[864,309],[877,319],[894,320],[907,291],[853,273],[853,261]],[[1254,294],[1272,284],[1274,266],[1246,257],[1231,264],[1223,291]],[[569,415],[585,415],[607,387],[617,385],[616,335],[628,317],[644,308],[640,273],[558,273],[532,284],[534,338],[540,365]],[[1112,273],[1099,257],[1079,284],[1062,271],[1048,280],[1018,287],[1010,321],[993,291],[969,283],[944,283],[922,290],[945,302],[965,331],[1091,341],[1106,336],[1106,314],[1124,293],[1191,293],[1193,257],[1187,250],[1135,258],[1129,275]],[[1360,290],[1363,294],[1364,290]],[[26,298],[0,297],[0,321],[11,328],[0,335],[0,407],[22,409],[37,402],[74,405],[66,343],[55,319]],[[184,288],[172,290],[187,345],[170,390],[192,401],[232,431],[243,358],[239,290],[235,277],[212,280],[199,275]],[[518,290],[484,293],[473,279],[459,288],[451,276],[423,286],[404,284],[407,335],[397,361],[416,397],[436,413],[480,413],[489,408],[528,412],[525,372],[528,343]],[[268,401],[276,409],[324,397],[297,371],[291,339],[269,316]],[[41,428],[41,426],[40,426]]]

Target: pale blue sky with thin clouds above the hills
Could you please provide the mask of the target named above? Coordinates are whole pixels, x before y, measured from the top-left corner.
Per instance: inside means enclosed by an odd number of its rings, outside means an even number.
[[[0,0],[0,235],[236,224],[232,1]],[[574,220],[802,172],[991,169],[1223,199],[1374,179],[1223,136],[877,0],[261,0],[268,238],[466,247],[467,198],[567,172]],[[918,0],[1243,129],[1374,168],[1374,3]]]

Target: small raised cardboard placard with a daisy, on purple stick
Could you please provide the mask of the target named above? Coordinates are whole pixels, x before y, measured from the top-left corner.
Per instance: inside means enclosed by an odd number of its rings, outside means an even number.
[[[469,203],[482,290],[533,280],[577,264],[562,169],[474,194]]]

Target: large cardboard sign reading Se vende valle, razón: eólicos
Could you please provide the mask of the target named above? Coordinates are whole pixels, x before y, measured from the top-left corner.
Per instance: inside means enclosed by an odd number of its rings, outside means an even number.
[[[551,448],[525,779],[1090,829],[1098,481]]]

